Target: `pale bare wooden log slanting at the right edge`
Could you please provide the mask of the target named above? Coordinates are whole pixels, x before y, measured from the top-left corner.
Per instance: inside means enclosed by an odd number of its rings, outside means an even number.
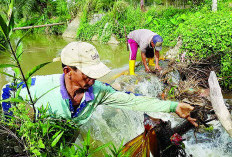
[[[221,122],[222,126],[228,132],[230,137],[232,137],[232,118],[230,112],[225,106],[221,88],[219,86],[217,76],[214,71],[210,72],[208,82],[210,87],[210,99],[213,109],[219,121]]]

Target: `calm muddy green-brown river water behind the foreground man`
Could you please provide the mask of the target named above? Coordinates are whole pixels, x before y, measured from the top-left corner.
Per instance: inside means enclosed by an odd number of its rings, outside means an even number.
[[[14,38],[13,42],[18,39]],[[61,36],[45,36],[45,35],[31,35],[23,39],[23,50],[22,55],[22,68],[26,73],[28,70],[36,65],[44,62],[52,61],[53,58],[58,57],[62,48],[69,42],[75,41],[75,39],[64,39]],[[101,80],[107,82],[109,78],[125,69],[128,69],[129,51],[126,50],[125,44],[114,45],[114,44],[100,44],[99,42],[91,42],[99,54],[102,62],[104,62],[111,70],[112,73],[102,78]],[[163,49],[166,51],[167,48]],[[137,61],[141,60],[140,53],[137,54]],[[0,53],[0,63],[12,63],[9,56]],[[2,71],[2,69],[0,69]],[[11,68],[3,70],[7,73],[13,73]],[[61,63],[54,62],[46,67],[42,68],[35,75],[49,75],[62,73]],[[0,88],[4,84],[10,81],[9,77],[0,74]]]

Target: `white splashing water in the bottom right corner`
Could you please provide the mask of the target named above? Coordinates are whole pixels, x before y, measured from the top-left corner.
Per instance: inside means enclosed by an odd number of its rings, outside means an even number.
[[[193,136],[193,131],[186,134],[186,152],[194,157],[231,157],[232,138],[222,128],[220,122],[212,123],[212,132],[196,133],[197,142]]]

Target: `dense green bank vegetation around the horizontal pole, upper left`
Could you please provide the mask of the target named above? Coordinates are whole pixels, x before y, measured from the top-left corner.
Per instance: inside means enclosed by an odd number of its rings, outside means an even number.
[[[2,0],[1,9],[7,12],[10,0]],[[70,11],[66,0],[20,0],[15,1],[15,25],[16,27],[45,25],[52,23],[67,22],[74,15]],[[1,13],[2,14],[2,13]],[[4,14],[3,14],[4,15]],[[33,29],[34,33],[61,34],[65,25],[42,27]]]

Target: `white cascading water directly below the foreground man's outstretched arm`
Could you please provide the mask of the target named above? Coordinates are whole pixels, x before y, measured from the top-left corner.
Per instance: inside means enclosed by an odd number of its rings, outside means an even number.
[[[89,129],[96,141],[113,142],[116,146],[128,142],[144,132],[144,112],[116,109],[109,106],[98,106],[91,119],[81,126],[81,134]],[[167,113],[147,112],[152,117],[174,121],[174,116]],[[177,124],[175,121],[173,124]]]

